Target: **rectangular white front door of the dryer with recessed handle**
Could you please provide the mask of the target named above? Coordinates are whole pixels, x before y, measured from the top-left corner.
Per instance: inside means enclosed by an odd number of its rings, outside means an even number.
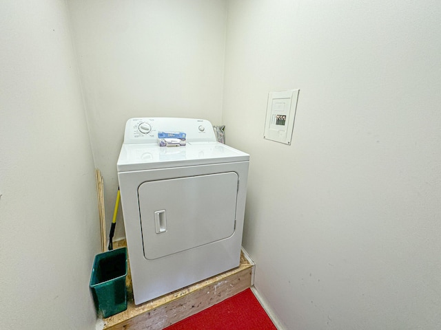
[[[234,234],[236,172],[145,181],[138,188],[144,256],[163,256]]]

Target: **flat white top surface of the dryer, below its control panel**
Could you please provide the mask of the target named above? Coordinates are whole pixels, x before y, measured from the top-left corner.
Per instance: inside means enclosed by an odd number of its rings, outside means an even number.
[[[229,162],[247,162],[249,155],[219,142],[187,142],[186,146],[123,144],[117,163],[119,172]]]

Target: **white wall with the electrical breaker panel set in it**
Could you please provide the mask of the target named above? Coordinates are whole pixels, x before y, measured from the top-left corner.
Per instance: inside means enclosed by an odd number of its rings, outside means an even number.
[[[440,1],[229,1],[245,249],[287,329],[439,329]],[[269,91],[300,89],[291,146]]]

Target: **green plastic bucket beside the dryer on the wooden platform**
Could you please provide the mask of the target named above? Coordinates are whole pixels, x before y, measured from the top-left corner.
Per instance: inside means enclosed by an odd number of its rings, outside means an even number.
[[[127,248],[96,254],[90,290],[96,312],[107,318],[127,309]]]

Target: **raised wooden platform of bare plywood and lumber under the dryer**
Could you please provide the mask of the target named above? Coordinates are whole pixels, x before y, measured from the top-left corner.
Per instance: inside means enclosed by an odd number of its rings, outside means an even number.
[[[114,248],[122,246],[125,246],[125,240],[114,243]],[[253,272],[254,263],[242,253],[239,267],[233,270],[189,285],[141,305],[134,305],[129,271],[126,283],[127,310],[105,318],[103,320],[105,323],[104,329],[163,329],[251,287]]]

